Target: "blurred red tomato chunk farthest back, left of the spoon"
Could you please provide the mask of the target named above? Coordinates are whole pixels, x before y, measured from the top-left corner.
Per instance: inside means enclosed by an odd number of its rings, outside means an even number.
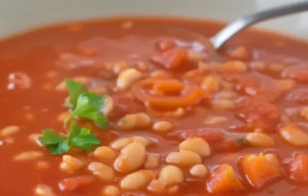
[[[171,49],[151,58],[151,61],[166,69],[186,69],[188,64],[188,52],[185,49]]]

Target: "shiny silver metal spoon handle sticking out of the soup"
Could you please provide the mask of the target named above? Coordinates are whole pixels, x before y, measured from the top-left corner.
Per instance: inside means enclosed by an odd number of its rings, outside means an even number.
[[[219,49],[230,37],[234,36],[241,30],[252,26],[258,22],[265,21],[267,19],[275,18],[278,16],[284,16],[297,12],[307,11],[308,1],[288,4],[285,6],[275,7],[272,9],[248,14],[236,19],[234,22],[227,25],[225,28],[220,30],[216,35],[210,38],[211,43],[215,49]]]

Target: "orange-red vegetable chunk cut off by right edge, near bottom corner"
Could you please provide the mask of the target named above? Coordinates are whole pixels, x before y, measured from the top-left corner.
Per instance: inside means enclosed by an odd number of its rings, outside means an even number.
[[[290,163],[290,179],[299,183],[308,183],[308,155],[297,154]]]

